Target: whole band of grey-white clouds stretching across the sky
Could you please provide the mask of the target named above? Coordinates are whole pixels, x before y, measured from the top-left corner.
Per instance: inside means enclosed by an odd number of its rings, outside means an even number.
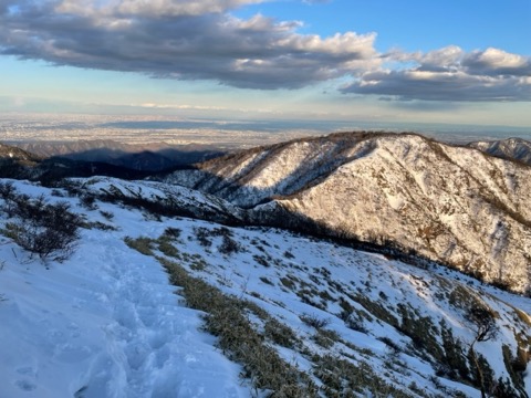
[[[342,77],[350,83],[340,91],[350,95],[531,101],[530,57],[458,46],[379,54],[374,32],[323,38],[299,33],[299,21],[231,14],[264,1],[0,0],[0,54],[240,88],[294,90]]]

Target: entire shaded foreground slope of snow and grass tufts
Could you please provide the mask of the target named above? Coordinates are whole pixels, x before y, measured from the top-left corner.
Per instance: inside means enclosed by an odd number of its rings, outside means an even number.
[[[0,189],[2,398],[531,395],[529,297],[444,266],[184,217],[248,216],[181,187],[11,182]],[[83,219],[62,263],[6,232],[18,231],[18,197]]]

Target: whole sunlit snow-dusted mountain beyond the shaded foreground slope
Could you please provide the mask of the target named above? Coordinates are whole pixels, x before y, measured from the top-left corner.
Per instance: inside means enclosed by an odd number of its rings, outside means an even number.
[[[241,151],[164,179],[273,224],[394,247],[530,290],[531,168],[414,134],[334,134]]]

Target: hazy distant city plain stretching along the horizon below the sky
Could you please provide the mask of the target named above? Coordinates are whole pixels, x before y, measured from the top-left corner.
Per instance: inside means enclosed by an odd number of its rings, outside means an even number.
[[[419,123],[377,123],[336,121],[231,121],[192,119],[160,115],[0,115],[3,143],[114,140],[145,145],[205,145],[220,149],[249,148],[302,136],[335,132],[415,132],[449,143],[503,139],[531,139],[531,128],[506,126],[446,125]]]

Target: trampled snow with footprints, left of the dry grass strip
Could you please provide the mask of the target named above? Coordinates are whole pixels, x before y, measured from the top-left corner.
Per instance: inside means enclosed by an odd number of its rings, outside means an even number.
[[[134,216],[116,214],[123,232],[105,238],[83,230],[49,268],[1,242],[1,398],[250,396],[158,262],[123,242],[150,229]]]

